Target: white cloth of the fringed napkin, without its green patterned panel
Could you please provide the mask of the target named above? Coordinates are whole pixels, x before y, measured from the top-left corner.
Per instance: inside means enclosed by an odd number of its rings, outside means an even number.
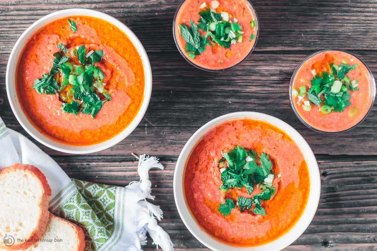
[[[53,213],[61,210],[67,201],[72,201],[73,195],[76,197],[78,193],[76,186],[73,186],[74,189],[71,189],[69,194],[66,193],[66,188],[72,186],[71,184],[78,184],[80,181],[72,182],[51,157],[41,151],[25,136],[6,128],[3,120],[0,118],[0,170],[14,163],[31,164],[38,167],[44,173],[52,190],[49,210]],[[118,208],[123,208],[121,213],[114,213],[113,215],[114,224],[116,227],[120,226],[118,227],[121,229],[119,230],[120,233],[118,233],[120,236],[116,236],[117,238],[113,238],[113,236],[107,238],[107,242],[111,241],[111,243],[107,243],[106,240],[103,240],[103,243],[94,243],[96,248],[88,247],[87,241],[86,250],[140,251],[142,250],[141,246],[147,242],[147,232],[157,247],[161,246],[163,251],[173,250],[173,243],[169,235],[157,225],[156,219],[160,220],[162,218],[162,210],[159,206],[146,201],[147,198],[154,199],[150,195],[151,183],[148,175],[149,169],[152,167],[163,169],[157,158],[141,155],[138,165],[140,182],[130,183],[126,188],[111,187],[115,194],[115,200],[118,201],[115,204],[119,204],[119,201],[121,201],[121,205]],[[97,186],[97,184],[93,185]],[[110,190],[110,188],[107,188],[110,186],[98,184],[97,187],[105,187],[107,190]],[[72,205],[72,202],[69,203]],[[90,202],[88,205],[90,205]],[[64,214],[64,216],[69,220],[75,221],[68,217],[68,213]],[[80,220],[76,219],[76,223],[80,225]],[[81,226],[84,228],[86,235],[88,235],[85,226]],[[91,235],[89,237],[94,239]],[[95,240],[91,242],[95,242]]]

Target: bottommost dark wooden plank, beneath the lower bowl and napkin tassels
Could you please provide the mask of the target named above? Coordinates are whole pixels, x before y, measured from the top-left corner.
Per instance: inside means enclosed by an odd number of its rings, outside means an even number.
[[[126,186],[137,181],[131,155],[53,156],[69,176]],[[317,155],[322,181],[319,210],[305,233],[285,250],[375,250],[377,248],[377,157]],[[161,156],[165,170],[151,170],[152,193],[164,211],[159,223],[178,250],[208,250],[185,228],[176,210],[173,174],[177,156]],[[145,250],[152,250],[148,243]],[[189,248],[189,249],[186,249]]]

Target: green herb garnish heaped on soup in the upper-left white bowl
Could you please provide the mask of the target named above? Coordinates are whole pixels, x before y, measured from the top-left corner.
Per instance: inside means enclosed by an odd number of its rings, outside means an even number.
[[[103,104],[111,100],[102,82],[105,76],[100,68],[94,65],[101,61],[103,51],[91,51],[92,54],[87,58],[86,48],[82,45],[76,53],[80,65],[74,65],[77,60],[66,56],[66,46],[58,44],[57,48],[61,51],[54,53],[55,59],[49,73],[35,79],[33,88],[39,94],[58,94],[63,101],[63,112],[88,114],[94,119]],[[73,63],[69,62],[70,60]]]

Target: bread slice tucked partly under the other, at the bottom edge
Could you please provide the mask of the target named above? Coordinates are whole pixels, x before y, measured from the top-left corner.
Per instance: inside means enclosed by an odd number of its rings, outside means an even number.
[[[41,240],[26,251],[84,251],[85,235],[81,227],[50,213]],[[0,249],[5,251],[5,249]]]

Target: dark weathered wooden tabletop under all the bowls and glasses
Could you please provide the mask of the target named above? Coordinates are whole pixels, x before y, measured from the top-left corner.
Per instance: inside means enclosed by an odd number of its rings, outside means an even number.
[[[158,156],[166,169],[152,170],[150,178],[154,203],[164,210],[160,225],[176,250],[208,250],[179,218],[172,190],[175,162],[204,123],[235,111],[259,111],[296,128],[316,154],[322,174],[317,214],[286,250],[377,250],[377,105],[351,132],[322,135],[297,119],[288,96],[294,69],[320,49],[356,53],[377,74],[377,1],[254,1],[260,21],[256,49],[242,65],[221,73],[198,70],[179,55],[172,35],[179,0],[70,2],[0,2],[0,116],[9,128],[29,137],[15,119],[5,90],[6,63],[21,33],[60,9],[102,11],[129,26],[143,43],[152,64],[152,99],[135,131],[105,151],[67,155],[37,143],[70,177],[126,186],[138,180],[131,152]],[[145,250],[153,248],[149,240]]]

